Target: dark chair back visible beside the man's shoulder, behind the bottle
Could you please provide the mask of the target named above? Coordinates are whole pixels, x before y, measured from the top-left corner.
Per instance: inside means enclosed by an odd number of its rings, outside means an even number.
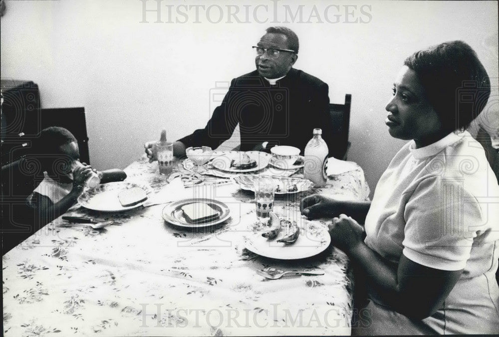
[[[345,104],[329,104],[329,116],[333,125],[332,133],[338,140],[338,152],[343,154],[341,159],[346,160],[347,152],[350,148],[348,141],[348,131],[350,129],[350,106],[352,95],[345,95]]]

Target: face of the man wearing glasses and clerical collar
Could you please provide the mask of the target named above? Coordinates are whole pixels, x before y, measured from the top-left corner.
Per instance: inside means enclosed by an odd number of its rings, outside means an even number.
[[[265,49],[290,49],[287,37],[278,33],[266,33],[260,38],[256,46]],[[287,74],[297,58],[298,55],[287,51],[280,51],[277,58],[270,58],[267,52],[264,52],[261,55],[256,55],[256,70],[260,76],[270,79],[279,78]]]

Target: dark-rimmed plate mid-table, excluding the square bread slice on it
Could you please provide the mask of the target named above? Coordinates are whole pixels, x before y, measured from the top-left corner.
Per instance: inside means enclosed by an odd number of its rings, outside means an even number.
[[[213,209],[219,212],[220,216],[212,221],[209,222],[204,222],[204,223],[191,223],[188,222],[187,219],[184,216],[184,212],[182,211],[182,206],[188,205],[191,203],[195,202],[204,202],[208,205],[210,205]],[[165,206],[163,208],[163,212],[161,213],[163,216],[163,219],[166,222],[172,223],[177,226],[181,227],[189,227],[189,228],[199,228],[199,227],[208,227],[208,226],[213,226],[217,225],[219,223],[224,222],[227,220],[230,216],[230,210],[227,205],[221,201],[214,200],[214,199],[203,199],[203,198],[190,198],[190,199],[184,199],[184,200],[179,200],[170,203],[169,205]]]

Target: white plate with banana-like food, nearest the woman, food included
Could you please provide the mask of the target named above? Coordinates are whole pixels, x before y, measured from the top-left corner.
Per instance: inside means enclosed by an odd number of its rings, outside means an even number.
[[[331,243],[327,228],[320,222],[287,212],[270,212],[268,221],[250,224],[243,240],[251,252],[280,260],[311,257]]]

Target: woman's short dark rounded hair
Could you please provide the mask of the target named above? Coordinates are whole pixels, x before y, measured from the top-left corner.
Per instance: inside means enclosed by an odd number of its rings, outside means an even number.
[[[491,95],[487,71],[477,53],[463,41],[444,42],[417,51],[404,64],[416,72],[447,130],[465,130]]]

